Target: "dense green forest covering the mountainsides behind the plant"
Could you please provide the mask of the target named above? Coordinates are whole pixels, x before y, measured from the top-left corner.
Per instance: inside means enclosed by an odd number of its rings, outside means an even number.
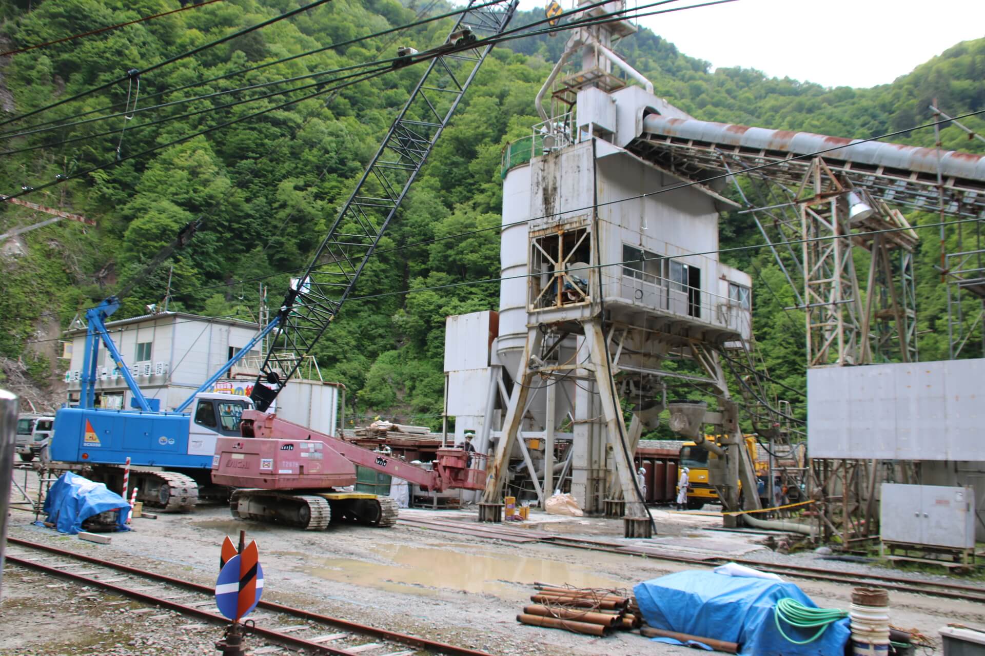
[[[420,67],[411,66],[332,90],[337,74],[331,72],[392,57],[398,45],[437,45],[451,19],[325,46],[452,9],[437,0],[406,6],[397,0],[334,0],[141,75],[137,89],[133,81],[107,86],[128,70],[142,71],[299,6],[295,0],[181,2],[187,11],[0,57],[0,194],[20,194],[64,177],[25,200],[96,221],[95,227],[61,221],[0,244],[0,365],[6,372],[0,383],[16,375],[46,385],[59,366],[51,348],[59,330],[80,308],[123,288],[128,293],[114,318],[144,314],[146,305],[161,303],[168,277],[172,310],[249,320],[260,305],[261,283],[270,290],[270,302],[279,302],[291,272],[307,264],[421,75]],[[178,7],[175,0],[6,2],[0,5],[0,51]],[[514,26],[542,17],[542,11],[521,13]],[[539,121],[534,96],[562,46],[562,37],[540,35],[493,49],[382,249],[499,223],[502,149]],[[927,106],[935,97],[952,115],[985,108],[985,39],[956,44],[873,89],[827,89],[744,68],[712,71],[651,30],[625,38],[618,50],[653,81],[658,95],[706,120],[867,138],[929,122]],[[221,127],[311,93],[315,84],[324,92]],[[300,87],[305,89],[293,90]],[[985,131],[979,117],[964,123]],[[205,134],[180,141],[200,132]],[[985,146],[953,126],[942,135],[945,148]],[[932,146],[934,133],[913,130],[893,141]],[[90,169],[98,170],[80,174]],[[0,229],[46,218],[38,216],[2,204]],[[910,219],[937,220],[919,214]],[[149,268],[195,220],[201,227],[190,243]],[[947,357],[945,289],[933,268],[940,252],[937,232],[923,232],[917,256],[919,348],[922,359],[933,360]],[[956,232],[949,236],[952,246],[957,239]],[[760,242],[751,218],[722,216],[723,247]],[[725,259],[754,275],[755,335],[771,375],[803,389],[804,320],[784,309],[795,302],[782,273],[764,249]],[[436,424],[444,318],[494,309],[498,285],[428,288],[494,278],[498,262],[495,230],[373,258],[358,295],[409,293],[347,304],[315,348],[326,380],[346,384],[359,415]],[[980,341],[975,333],[964,355],[982,355]],[[803,400],[797,396],[791,400]]]

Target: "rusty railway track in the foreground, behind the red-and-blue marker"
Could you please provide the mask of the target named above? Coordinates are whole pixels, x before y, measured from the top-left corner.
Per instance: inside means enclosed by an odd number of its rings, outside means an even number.
[[[8,538],[7,544],[8,567],[24,567],[80,585],[99,587],[206,623],[229,625],[216,609],[215,590],[211,586],[19,538]],[[484,651],[361,625],[262,599],[257,612],[249,619],[256,622],[251,629],[253,635],[291,650],[303,649],[305,654],[412,656],[426,650],[455,656],[491,656]],[[219,637],[217,631],[216,638]],[[262,653],[273,653],[266,649]]]

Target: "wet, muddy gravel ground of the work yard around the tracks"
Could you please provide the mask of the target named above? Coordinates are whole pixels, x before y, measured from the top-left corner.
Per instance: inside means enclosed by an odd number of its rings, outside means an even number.
[[[474,512],[406,509],[401,516],[474,519]],[[656,543],[681,554],[775,556],[757,544],[761,535],[714,530],[721,519],[713,514],[655,509],[654,518],[660,535],[633,542]],[[265,599],[493,654],[687,653],[684,647],[652,643],[638,635],[596,638],[515,621],[529,603],[534,581],[631,588],[686,568],[654,558],[513,544],[401,524],[389,529],[333,525],[311,533],[236,521],[222,506],[161,514],[156,520],[135,519],[134,530],[113,533],[108,545],[59,536],[32,521],[33,514],[14,511],[10,535],[204,584],[215,582],[223,538],[245,528],[247,539],[255,539],[260,547]],[[623,541],[620,520],[561,518],[534,511],[527,525],[562,535]],[[813,565],[822,567],[823,562]],[[821,607],[848,608],[851,586],[796,582]],[[218,638],[216,628],[202,631],[197,639],[190,639],[187,630],[178,631],[184,642],[175,642],[175,627],[187,625],[187,620],[167,614],[153,616],[157,621],[128,616],[140,605],[115,597],[110,601],[75,586],[52,587],[58,583],[41,574],[5,577],[0,655],[214,653],[208,645]],[[953,622],[985,626],[980,604],[902,592],[892,592],[890,603],[893,625],[916,627],[935,638],[938,628]]]

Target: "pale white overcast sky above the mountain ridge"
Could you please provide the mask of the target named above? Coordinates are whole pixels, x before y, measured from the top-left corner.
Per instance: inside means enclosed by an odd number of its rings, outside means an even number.
[[[520,0],[520,8],[547,1]],[[573,5],[559,1],[565,10]],[[644,11],[655,9],[661,8]],[[755,68],[825,87],[874,87],[958,41],[985,36],[985,0],[738,0],[641,23],[712,68]]]

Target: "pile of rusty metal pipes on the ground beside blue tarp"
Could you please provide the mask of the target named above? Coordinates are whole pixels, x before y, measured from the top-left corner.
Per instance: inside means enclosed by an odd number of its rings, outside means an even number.
[[[525,606],[523,613],[516,616],[519,623],[599,636],[611,630],[631,630],[642,625],[635,598],[624,590],[550,583],[534,583],[534,588],[535,592],[530,596],[534,603]]]

